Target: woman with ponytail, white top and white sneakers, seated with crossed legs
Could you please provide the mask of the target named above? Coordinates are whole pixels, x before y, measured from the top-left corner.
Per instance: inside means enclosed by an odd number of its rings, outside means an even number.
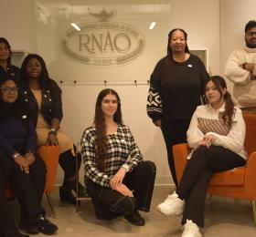
[[[247,160],[245,123],[224,78],[210,77],[205,96],[208,104],[197,107],[187,130],[192,152],[182,179],[176,191],[157,206],[165,215],[183,213],[183,237],[201,236],[198,226],[204,227],[205,199],[213,174],[244,166]]]

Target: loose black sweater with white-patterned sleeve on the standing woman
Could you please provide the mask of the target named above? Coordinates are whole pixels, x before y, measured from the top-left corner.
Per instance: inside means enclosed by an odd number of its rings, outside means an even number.
[[[192,54],[185,62],[169,57],[159,60],[150,77],[149,117],[190,119],[201,104],[208,77],[203,62]]]

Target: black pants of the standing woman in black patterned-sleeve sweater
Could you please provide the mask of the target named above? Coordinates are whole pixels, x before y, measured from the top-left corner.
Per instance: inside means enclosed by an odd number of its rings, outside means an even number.
[[[173,180],[177,187],[176,168],[172,147],[179,143],[187,142],[187,129],[190,119],[163,119],[162,132],[165,139],[167,149],[168,164]]]

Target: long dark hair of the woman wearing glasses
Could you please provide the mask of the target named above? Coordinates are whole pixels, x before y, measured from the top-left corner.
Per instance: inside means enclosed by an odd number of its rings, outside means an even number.
[[[12,80],[16,84],[18,88],[18,83],[16,81],[16,77],[11,75],[5,75],[0,80],[0,88],[5,84],[6,81]],[[18,95],[16,101],[12,104],[5,103],[3,100],[2,91],[0,90],[0,123],[4,122],[6,119],[15,117],[20,120],[27,128],[27,121],[28,121],[28,112],[27,106],[22,98],[20,91],[18,90]]]

